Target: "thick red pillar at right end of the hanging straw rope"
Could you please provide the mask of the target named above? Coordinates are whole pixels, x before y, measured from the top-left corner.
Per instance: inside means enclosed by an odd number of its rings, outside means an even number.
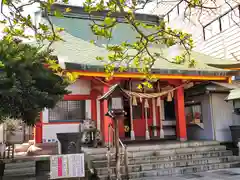
[[[184,88],[175,91],[176,132],[180,141],[187,140],[187,128],[184,108]]]

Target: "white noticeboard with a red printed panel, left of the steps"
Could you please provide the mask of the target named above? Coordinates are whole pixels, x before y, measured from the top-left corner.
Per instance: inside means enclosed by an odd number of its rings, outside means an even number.
[[[84,154],[54,155],[50,159],[50,179],[85,176]]]

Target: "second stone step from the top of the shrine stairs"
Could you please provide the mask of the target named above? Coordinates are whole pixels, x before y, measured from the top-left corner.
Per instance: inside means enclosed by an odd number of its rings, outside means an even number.
[[[193,148],[177,148],[177,149],[164,149],[164,150],[149,150],[149,151],[136,151],[128,152],[129,158],[135,157],[147,157],[147,156],[166,156],[182,153],[194,153],[194,152],[210,152],[210,151],[223,151],[226,150],[226,146],[223,145],[211,145]],[[92,160],[107,160],[106,149],[105,154],[92,154],[90,155]]]

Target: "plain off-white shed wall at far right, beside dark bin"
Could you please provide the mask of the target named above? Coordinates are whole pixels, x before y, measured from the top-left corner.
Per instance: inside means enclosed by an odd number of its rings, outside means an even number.
[[[232,141],[229,126],[233,124],[232,102],[226,102],[224,99],[227,94],[212,94],[212,110],[215,136],[217,141]]]

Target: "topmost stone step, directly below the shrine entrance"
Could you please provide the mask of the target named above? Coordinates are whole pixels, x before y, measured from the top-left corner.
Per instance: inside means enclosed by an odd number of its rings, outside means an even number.
[[[205,147],[205,146],[216,146],[220,145],[218,141],[187,141],[187,142],[179,142],[179,141],[170,141],[163,142],[161,144],[149,144],[149,145],[132,145],[127,147],[128,152],[142,152],[142,151],[157,151],[157,150],[168,150],[168,149],[180,149],[180,148],[194,148],[194,147]],[[106,148],[82,148],[84,152],[89,155],[94,154],[105,154]],[[114,151],[114,148],[111,148]]]

